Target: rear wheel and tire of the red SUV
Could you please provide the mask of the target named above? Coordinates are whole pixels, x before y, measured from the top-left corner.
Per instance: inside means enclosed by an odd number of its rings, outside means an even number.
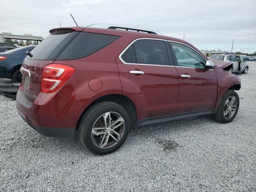
[[[126,140],[130,118],[122,106],[114,102],[99,102],[82,115],[78,130],[84,147],[94,154],[109,154]]]

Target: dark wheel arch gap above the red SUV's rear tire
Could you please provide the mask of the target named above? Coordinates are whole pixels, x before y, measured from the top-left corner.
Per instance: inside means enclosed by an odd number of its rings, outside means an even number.
[[[88,105],[84,109],[84,111],[82,112],[82,114],[77,122],[76,129],[78,128],[78,124],[79,124],[80,119],[81,119],[82,115],[84,114],[84,112],[86,112],[86,110],[88,110],[88,108],[90,108],[92,105],[94,105],[98,102],[102,102],[102,101],[110,101],[110,102],[114,102],[114,103],[122,106],[127,111],[128,115],[130,117],[131,126],[134,126],[136,124],[137,109],[136,109],[134,102],[130,98],[128,98],[127,96],[124,96],[122,94],[108,94],[108,95],[104,95],[104,96],[101,96],[101,97],[95,99],[93,102],[90,103],[90,105]]]

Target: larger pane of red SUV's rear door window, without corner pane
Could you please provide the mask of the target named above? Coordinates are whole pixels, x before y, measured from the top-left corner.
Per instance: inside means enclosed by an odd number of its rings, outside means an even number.
[[[134,49],[138,64],[170,65],[164,41],[138,40]]]

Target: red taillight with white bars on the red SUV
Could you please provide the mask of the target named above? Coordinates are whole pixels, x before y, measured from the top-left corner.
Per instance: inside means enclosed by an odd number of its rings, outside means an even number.
[[[52,93],[58,90],[74,74],[75,68],[63,64],[46,65],[42,72],[41,92]]]

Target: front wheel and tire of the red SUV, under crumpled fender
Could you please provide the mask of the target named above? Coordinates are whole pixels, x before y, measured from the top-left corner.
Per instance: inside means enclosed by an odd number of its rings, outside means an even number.
[[[239,108],[239,96],[235,91],[227,90],[222,97],[217,112],[214,114],[214,119],[220,123],[231,122]]]

